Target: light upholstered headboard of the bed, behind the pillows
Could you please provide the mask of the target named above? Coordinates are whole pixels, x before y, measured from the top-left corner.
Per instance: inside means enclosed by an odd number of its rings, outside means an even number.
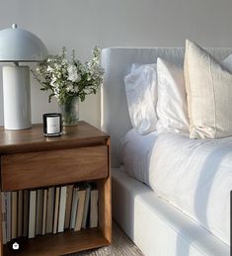
[[[232,48],[207,48],[218,60]],[[184,62],[184,48],[110,47],[102,51],[105,77],[102,88],[101,126],[112,137],[112,166],[119,166],[119,139],[131,128],[124,91],[123,77],[130,72],[132,63],[154,63],[157,57],[179,65]]]

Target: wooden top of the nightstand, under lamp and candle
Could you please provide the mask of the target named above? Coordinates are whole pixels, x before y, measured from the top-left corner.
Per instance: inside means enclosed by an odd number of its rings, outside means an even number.
[[[106,144],[108,138],[108,134],[83,121],[77,126],[64,128],[64,133],[56,137],[45,137],[41,124],[21,130],[0,127],[0,154]]]

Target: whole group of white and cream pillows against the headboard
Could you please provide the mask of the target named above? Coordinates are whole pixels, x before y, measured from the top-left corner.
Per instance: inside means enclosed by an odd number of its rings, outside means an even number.
[[[158,58],[156,64],[133,65],[124,84],[132,127],[141,134],[232,135],[232,55],[218,62],[187,41],[184,69]]]

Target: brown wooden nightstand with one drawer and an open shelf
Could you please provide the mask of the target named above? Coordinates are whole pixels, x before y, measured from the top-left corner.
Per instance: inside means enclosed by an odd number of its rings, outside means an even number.
[[[59,137],[44,137],[42,126],[0,128],[1,191],[94,181],[99,190],[99,227],[24,240],[20,255],[63,255],[112,241],[110,136],[79,122]],[[1,224],[2,230],[2,224]],[[1,231],[2,232],[2,231]],[[2,236],[1,236],[2,237]],[[11,255],[2,244],[1,255]],[[15,255],[15,253],[13,254]]]

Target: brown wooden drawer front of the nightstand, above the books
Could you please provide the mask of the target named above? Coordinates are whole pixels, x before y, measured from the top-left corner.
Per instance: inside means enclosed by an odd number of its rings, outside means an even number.
[[[3,155],[2,190],[106,178],[108,166],[107,145]]]

